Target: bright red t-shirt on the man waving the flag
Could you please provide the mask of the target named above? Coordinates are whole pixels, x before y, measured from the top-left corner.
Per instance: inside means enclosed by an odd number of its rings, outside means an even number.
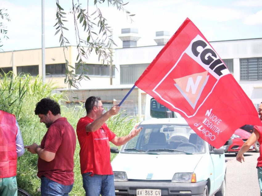
[[[85,116],[80,118],[76,126],[76,134],[80,144],[81,174],[91,172],[98,175],[113,174],[110,163],[111,141],[116,134],[104,123],[95,132],[86,132],[85,127],[94,120]]]

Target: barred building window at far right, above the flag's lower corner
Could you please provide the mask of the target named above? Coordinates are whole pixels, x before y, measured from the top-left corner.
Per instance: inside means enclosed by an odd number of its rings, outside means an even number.
[[[262,58],[239,59],[240,80],[262,80]]]

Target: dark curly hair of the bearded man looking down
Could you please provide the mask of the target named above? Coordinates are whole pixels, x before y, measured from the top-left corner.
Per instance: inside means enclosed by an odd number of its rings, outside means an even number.
[[[48,97],[41,99],[37,104],[35,104],[35,115],[47,115],[49,110],[53,115],[61,114],[59,104]]]

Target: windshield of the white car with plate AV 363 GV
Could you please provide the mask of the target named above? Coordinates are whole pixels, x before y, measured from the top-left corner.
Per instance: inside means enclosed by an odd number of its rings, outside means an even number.
[[[205,142],[188,125],[141,125],[138,136],[128,141],[121,153],[204,153]],[[132,149],[132,150],[131,150]]]

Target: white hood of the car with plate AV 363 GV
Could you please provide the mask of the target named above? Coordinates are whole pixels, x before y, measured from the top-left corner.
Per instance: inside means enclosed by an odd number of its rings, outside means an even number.
[[[128,179],[171,180],[177,172],[193,172],[203,154],[118,154],[113,171],[124,171]],[[151,178],[149,178],[151,176]]]

